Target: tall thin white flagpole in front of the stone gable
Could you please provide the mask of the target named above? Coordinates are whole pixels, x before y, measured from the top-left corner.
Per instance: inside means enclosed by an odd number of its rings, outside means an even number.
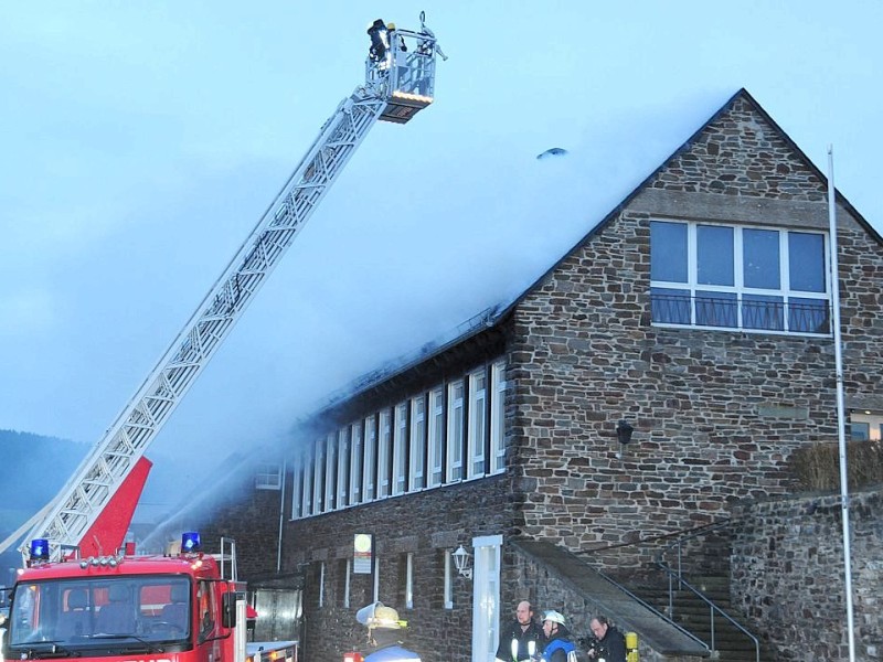
[[[843,355],[840,334],[840,274],[837,265],[837,196],[834,191],[833,147],[828,146],[828,234],[831,243],[831,323],[834,332],[837,369],[837,440],[840,448],[840,509],[843,521],[843,579],[847,594],[847,638],[850,662],[855,660],[852,618],[852,554],[849,533],[849,484],[847,483],[847,414],[843,406]]]

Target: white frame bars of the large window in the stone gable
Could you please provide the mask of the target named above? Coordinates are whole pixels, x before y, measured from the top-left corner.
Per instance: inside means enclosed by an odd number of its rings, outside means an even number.
[[[830,278],[830,242],[827,232],[821,232],[811,228],[800,227],[774,227],[762,225],[733,225],[728,223],[712,223],[712,222],[695,222],[695,221],[678,221],[672,218],[652,218],[651,223],[668,223],[672,225],[687,226],[687,281],[668,281],[668,280],[651,280],[651,288],[664,288],[673,290],[684,290],[690,296],[690,321],[687,322],[671,322],[671,321],[653,321],[655,327],[670,327],[680,328],[685,327],[695,329],[708,329],[714,331],[738,331],[744,333],[773,333],[773,334],[787,334],[787,335],[831,335],[832,331],[827,333],[817,333],[810,331],[791,331],[788,329],[790,318],[788,312],[788,305],[791,299],[812,299],[823,301],[826,307],[830,310],[831,306],[831,278]],[[700,284],[698,280],[698,228],[700,226],[716,226],[727,227],[733,229],[733,285],[706,285]],[[762,229],[778,233],[779,237],[779,288],[778,289],[764,289],[751,288],[744,285],[744,268],[743,268],[743,231],[745,229]],[[825,291],[823,292],[809,292],[802,290],[791,290],[789,287],[790,273],[789,273],[789,247],[788,235],[790,233],[821,235],[822,237],[822,255],[823,264],[822,269],[825,274]],[[653,247],[650,247],[652,253]],[[736,322],[733,327],[727,325],[700,325],[696,323],[696,293],[698,292],[720,292],[721,295],[735,295],[733,300],[735,305]],[[760,329],[754,327],[744,327],[743,323],[743,297],[744,296],[765,296],[765,297],[780,297],[783,299],[783,325],[781,329]],[[829,328],[832,320],[829,319]]]

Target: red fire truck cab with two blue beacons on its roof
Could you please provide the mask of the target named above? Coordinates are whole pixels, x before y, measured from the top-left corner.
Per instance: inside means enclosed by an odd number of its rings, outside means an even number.
[[[180,551],[49,560],[45,540],[12,592],[3,659],[103,662],[296,662],[297,642],[246,642],[244,586],[235,545],[201,549],[196,533]]]

